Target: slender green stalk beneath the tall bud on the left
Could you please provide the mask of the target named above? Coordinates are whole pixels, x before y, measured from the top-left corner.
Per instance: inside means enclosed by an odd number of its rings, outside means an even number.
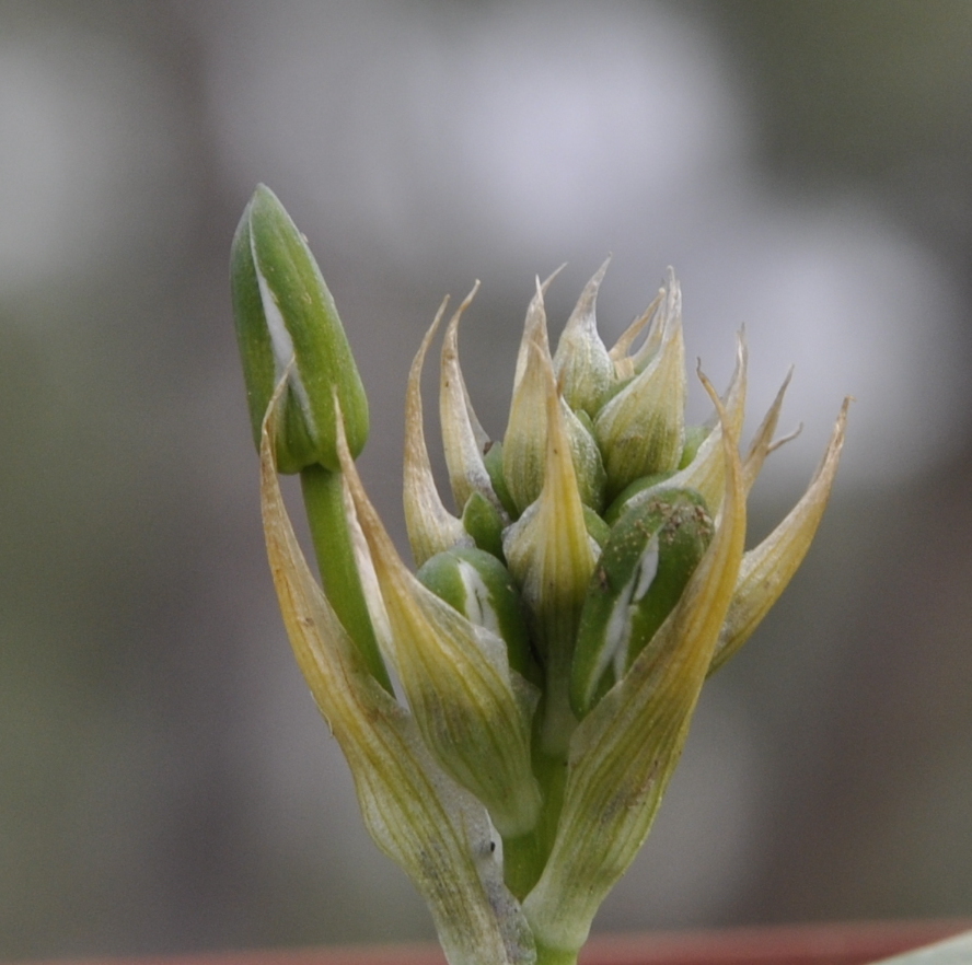
[[[371,676],[393,694],[355,562],[340,473],[332,473],[323,466],[308,466],[301,470],[300,485],[327,602],[355,641]]]

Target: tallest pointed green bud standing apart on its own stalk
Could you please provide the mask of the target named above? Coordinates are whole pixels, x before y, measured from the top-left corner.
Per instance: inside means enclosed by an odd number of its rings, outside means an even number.
[[[287,392],[275,433],[277,470],[339,468],[334,393],[354,455],[368,438],[368,399],[334,300],[303,235],[259,185],[233,239],[230,281],[253,435],[277,383]]]

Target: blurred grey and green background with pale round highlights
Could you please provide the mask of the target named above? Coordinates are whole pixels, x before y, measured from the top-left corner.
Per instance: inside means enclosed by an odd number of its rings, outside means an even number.
[[[972,914],[970,103],[964,0],[2,0],[0,958],[432,935],[270,586],[227,282],[259,181],[340,307],[403,545],[408,361],[477,278],[496,433],[562,261],[554,337],[608,253],[605,340],[669,264],[719,383],[744,324],[753,426],[795,362],[754,538],[857,398],[595,927]]]

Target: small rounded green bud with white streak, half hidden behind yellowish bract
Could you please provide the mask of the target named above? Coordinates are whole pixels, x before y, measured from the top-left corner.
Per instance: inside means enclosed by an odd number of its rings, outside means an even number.
[[[427,560],[415,574],[471,624],[485,627],[507,646],[510,668],[535,674],[530,636],[517,584],[509,570],[482,549],[450,549]]]

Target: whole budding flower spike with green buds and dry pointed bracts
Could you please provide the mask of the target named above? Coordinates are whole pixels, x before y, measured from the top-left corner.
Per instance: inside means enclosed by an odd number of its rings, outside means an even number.
[[[355,467],[368,403],[331,293],[265,187],[232,252],[236,334],[259,450],[264,530],[301,670],[347,756],[369,832],[408,873],[452,965],[577,956],[641,846],[699,690],[800,565],[830,496],[841,410],[807,492],[749,551],[745,503],[783,388],[744,453],[747,349],[686,426],[672,272],[608,349],[602,267],[551,352],[547,283],[526,310],[509,421],[491,440],[441,349],[453,509],[432,481],[412,365],[400,558]],[[278,473],[300,473],[321,573]],[[394,670],[397,689],[391,683]]]

